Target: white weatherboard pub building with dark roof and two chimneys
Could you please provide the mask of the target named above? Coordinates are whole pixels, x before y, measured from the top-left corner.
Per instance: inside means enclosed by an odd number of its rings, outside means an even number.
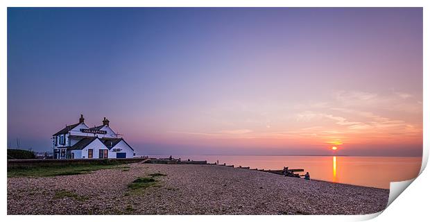
[[[52,135],[54,159],[132,158],[135,150],[119,137],[103,119],[101,126],[89,128],[83,115],[79,122]]]

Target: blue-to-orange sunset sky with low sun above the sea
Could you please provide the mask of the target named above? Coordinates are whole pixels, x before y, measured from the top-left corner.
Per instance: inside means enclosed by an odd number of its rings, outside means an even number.
[[[8,8],[8,146],[422,155],[422,8]]]

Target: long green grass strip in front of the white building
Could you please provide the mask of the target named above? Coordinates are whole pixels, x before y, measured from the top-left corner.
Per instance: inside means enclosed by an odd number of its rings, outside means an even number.
[[[8,178],[39,178],[50,176],[69,176],[92,173],[101,169],[128,169],[114,162],[112,164],[84,164],[51,167],[19,167],[8,169]]]

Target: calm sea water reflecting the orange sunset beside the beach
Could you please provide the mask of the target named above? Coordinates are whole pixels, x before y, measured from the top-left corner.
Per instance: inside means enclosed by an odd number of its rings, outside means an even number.
[[[140,155],[137,155],[140,156]],[[169,157],[150,155],[150,157]],[[411,180],[418,175],[421,157],[330,157],[262,155],[175,155],[182,160],[207,160],[258,169],[304,169],[311,179],[389,189],[390,182]],[[304,174],[300,173],[300,174]]]

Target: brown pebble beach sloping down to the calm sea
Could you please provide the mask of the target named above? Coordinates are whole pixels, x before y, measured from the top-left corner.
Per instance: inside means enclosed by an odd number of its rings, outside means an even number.
[[[217,165],[128,167],[8,178],[8,214],[372,214],[385,209],[389,194]],[[150,187],[130,191],[133,180],[151,173],[162,176]]]

